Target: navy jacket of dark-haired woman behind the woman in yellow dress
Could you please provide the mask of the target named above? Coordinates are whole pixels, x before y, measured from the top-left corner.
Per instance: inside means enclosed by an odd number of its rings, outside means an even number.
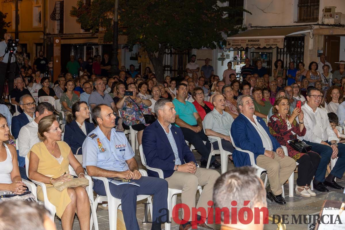
[[[86,128],[86,134],[88,135],[92,130],[95,129],[95,126],[87,121],[85,122],[85,128]],[[82,147],[83,142],[85,138],[87,137],[83,133],[83,131],[78,126],[76,120],[73,120],[71,123],[66,124],[65,126],[65,134],[63,136],[63,141],[65,141],[69,147],[71,147],[71,150],[73,154],[77,153],[77,150]],[[82,154],[82,148],[79,149],[78,155]]]

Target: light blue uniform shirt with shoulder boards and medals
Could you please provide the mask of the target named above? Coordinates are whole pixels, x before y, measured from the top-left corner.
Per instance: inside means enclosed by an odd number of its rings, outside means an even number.
[[[97,166],[118,172],[128,170],[126,160],[135,156],[124,132],[111,129],[109,141],[98,126],[86,137],[82,150],[83,167]]]

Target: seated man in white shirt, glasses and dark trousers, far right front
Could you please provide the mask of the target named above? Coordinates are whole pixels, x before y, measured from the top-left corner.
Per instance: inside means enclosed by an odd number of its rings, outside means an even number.
[[[318,108],[322,101],[321,92],[314,87],[308,87],[307,103],[302,106],[304,112],[304,126],[307,132],[303,141],[312,146],[312,151],[321,156],[313,180],[314,189],[320,192],[328,192],[326,186],[344,190],[334,181],[334,178],[342,178],[345,171],[345,144],[339,143],[339,139],[329,124],[327,112]],[[302,140],[302,137],[298,137]],[[329,160],[337,162],[325,179]]]

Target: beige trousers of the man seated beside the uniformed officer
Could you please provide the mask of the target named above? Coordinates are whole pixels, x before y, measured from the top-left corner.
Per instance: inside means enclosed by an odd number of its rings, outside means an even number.
[[[216,170],[196,168],[195,174],[175,171],[170,177],[165,179],[168,181],[169,188],[182,190],[181,202],[187,204],[191,213],[191,208],[195,208],[195,195],[198,185],[204,186],[204,188],[196,208],[202,207],[207,211],[209,207],[207,202],[213,200],[213,186],[218,177],[220,177],[220,174]],[[182,216],[184,217],[183,209]],[[191,214],[188,221],[192,221]]]

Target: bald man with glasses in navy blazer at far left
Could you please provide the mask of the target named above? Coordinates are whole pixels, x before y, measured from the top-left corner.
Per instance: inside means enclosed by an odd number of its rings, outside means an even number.
[[[21,96],[19,104],[23,112],[12,117],[11,133],[14,139],[18,138],[20,129],[35,118],[36,101],[31,95],[25,94]]]

